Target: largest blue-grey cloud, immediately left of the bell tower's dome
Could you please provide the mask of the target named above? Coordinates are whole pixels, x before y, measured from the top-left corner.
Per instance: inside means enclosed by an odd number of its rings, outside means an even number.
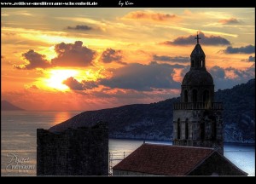
[[[128,64],[113,69],[113,77],[102,79],[100,83],[110,88],[135,89],[150,91],[152,89],[178,89],[180,83],[173,80],[174,67],[168,64],[151,62],[149,65]]]

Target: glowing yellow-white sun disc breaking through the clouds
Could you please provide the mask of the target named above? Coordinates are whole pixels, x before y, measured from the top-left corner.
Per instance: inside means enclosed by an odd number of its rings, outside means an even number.
[[[45,79],[44,82],[52,89],[68,90],[69,88],[63,81],[70,77],[75,78],[78,73],[76,70],[51,70],[49,71],[49,78]]]

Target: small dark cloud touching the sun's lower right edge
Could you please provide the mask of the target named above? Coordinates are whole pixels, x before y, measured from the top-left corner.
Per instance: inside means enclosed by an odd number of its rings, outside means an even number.
[[[82,81],[81,83],[79,83],[79,81],[73,77],[67,78],[63,81],[63,83],[66,84],[72,90],[86,90],[98,87],[97,82]]]

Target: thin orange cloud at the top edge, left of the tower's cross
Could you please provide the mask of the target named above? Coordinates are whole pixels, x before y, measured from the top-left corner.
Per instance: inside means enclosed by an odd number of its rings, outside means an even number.
[[[176,14],[163,14],[156,13],[153,11],[134,11],[128,14],[125,14],[124,19],[132,20],[154,20],[154,21],[166,21],[174,20],[177,18]]]

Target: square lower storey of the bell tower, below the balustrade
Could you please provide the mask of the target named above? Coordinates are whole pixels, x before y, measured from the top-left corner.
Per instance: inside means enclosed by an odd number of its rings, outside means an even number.
[[[213,147],[223,154],[223,125],[222,109],[175,109],[173,110],[172,144]]]

